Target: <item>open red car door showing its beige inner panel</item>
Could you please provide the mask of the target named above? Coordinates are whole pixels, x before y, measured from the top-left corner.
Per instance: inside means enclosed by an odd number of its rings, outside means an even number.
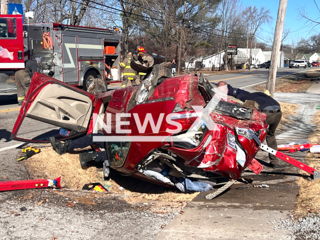
[[[35,140],[17,136],[26,117],[70,130],[73,132],[72,137],[85,133],[94,101],[93,94],[35,72],[10,138],[27,142],[48,142],[48,139]],[[65,139],[67,138],[70,136]]]

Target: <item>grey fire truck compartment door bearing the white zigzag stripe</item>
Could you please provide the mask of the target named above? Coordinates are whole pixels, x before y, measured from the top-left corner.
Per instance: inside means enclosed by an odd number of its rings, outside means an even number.
[[[78,82],[76,36],[62,35],[63,81]]]

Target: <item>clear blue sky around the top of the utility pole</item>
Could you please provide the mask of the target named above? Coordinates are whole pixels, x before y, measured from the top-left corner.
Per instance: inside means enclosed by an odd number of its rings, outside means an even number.
[[[320,9],[320,0],[315,0],[315,2],[317,3]],[[279,0],[267,0],[267,1],[257,0],[250,5],[255,5],[258,8],[260,8],[261,6],[264,6],[265,8],[271,11],[271,16],[273,17],[273,20],[271,21],[270,24],[264,24],[262,27],[263,30],[259,34],[263,39],[266,39],[267,35],[271,35],[266,31],[274,32],[275,21],[277,18],[277,12],[279,7]],[[314,3],[314,0],[288,0],[287,6],[286,6],[284,26],[289,27],[291,33],[290,33],[290,36],[284,40],[283,43],[292,43],[292,37],[307,38],[320,31],[320,25],[315,26],[313,29],[311,29],[314,24],[309,24],[310,22],[306,21],[306,19],[301,19],[301,20],[299,19],[299,14],[297,11],[298,7],[305,7],[306,12],[308,13],[308,16],[311,19],[316,19],[320,17],[320,12],[318,11]],[[318,20],[320,21],[320,18]]]

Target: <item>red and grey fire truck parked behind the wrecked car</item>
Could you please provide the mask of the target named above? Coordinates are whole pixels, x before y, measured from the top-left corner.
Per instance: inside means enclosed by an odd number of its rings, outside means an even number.
[[[0,15],[0,92],[16,91],[14,72],[35,57],[40,72],[84,90],[96,77],[120,82],[120,38],[118,28],[22,24],[22,15]]]

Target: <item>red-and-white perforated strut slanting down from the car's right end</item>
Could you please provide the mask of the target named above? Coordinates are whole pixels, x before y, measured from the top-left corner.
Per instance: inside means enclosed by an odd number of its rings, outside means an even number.
[[[265,150],[269,153],[271,153],[272,155],[275,155],[276,157],[280,158],[281,160],[284,160],[300,169],[302,169],[303,171],[306,171],[308,173],[310,173],[313,176],[313,179],[318,179],[320,178],[320,174],[319,171],[314,169],[313,167],[310,167],[296,159],[294,159],[293,157],[290,157],[280,151],[274,150],[271,147],[268,147],[267,145],[264,145],[261,143],[260,148],[262,150]]]

